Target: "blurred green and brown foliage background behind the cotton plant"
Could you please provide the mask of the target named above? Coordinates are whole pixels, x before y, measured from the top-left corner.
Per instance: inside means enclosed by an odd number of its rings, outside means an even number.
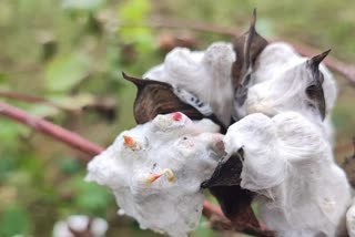
[[[134,125],[135,89],[122,80],[121,71],[141,75],[165,53],[158,40],[163,30],[148,27],[148,20],[206,21],[243,31],[254,7],[262,34],[332,48],[333,55],[355,60],[355,2],[349,0],[1,0],[0,91],[47,97],[57,106],[1,100],[106,146]],[[175,35],[182,31],[171,30]],[[213,32],[192,33],[200,49],[230,40]],[[347,143],[355,132],[354,89],[344,79],[338,82],[334,121],[338,143]],[[112,99],[118,116],[82,110],[95,99]],[[112,195],[83,182],[85,164],[78,158],[84,154],[3,117],[0,141],[1,237],[50,236],[53,224],[72,214],[103,216],[110,223],[108,236],[158,236],[118,217]],[[204,219],[193,234],[219,235]]]

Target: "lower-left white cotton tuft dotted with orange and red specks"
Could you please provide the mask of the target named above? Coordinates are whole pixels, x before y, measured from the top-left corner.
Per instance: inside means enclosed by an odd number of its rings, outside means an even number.
[[[224,153],[217,131],[211,121],[194,122],[179,112],[158,115],[122,132],[95,156],[87,181],[110,187],[120,208],[141,228],[187,236],[202,213],[200,184]]]

